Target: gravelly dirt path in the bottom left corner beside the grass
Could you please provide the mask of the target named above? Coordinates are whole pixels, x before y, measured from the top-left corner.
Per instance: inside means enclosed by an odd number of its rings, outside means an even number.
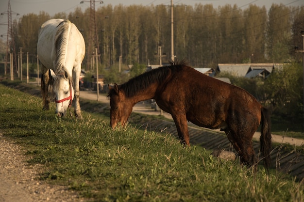
[[[82,202],[63,186],[37,180],[40,166],[26,164],[21,146],[0,133],[0,202]]]

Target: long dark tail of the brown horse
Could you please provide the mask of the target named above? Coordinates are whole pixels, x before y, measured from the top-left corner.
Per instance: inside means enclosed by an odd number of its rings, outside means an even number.
[[[262,118],[261,118],[261,152],[264,156],[264,165],[268,169],[271,165],[270,152],[271,146],[271,122],[270,122],[270,112],[268,109],[261,108]]]

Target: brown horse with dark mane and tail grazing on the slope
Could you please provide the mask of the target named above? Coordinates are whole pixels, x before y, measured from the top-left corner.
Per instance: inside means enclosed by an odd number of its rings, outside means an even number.
[[[198,126],[225,131],[242,163],[255,165],[253,134],[261,124],[261,152],[270,166],[270,114],[247,91],[208,77],[186,66],[171,64],[146,72],[128,82],[109,86],[110,124],[124,125],[133,106],[155,99],[160,109],[170,113],[182,143],[189,144],[187,120]]]

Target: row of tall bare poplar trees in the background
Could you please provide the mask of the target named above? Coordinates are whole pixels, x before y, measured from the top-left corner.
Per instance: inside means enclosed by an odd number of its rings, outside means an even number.
[[[118,63],[158,64],[158,47],[170,59],[170,7],[161,5],[100,6],[95,11],[96,28],[105,67]],[[33,53],[36,61],[37,33],[40,25],[50,18],[64,18],[82,32],[86,47],[89,41],[90,9],[80,7],[70,13],[50,16],[27,14],[15,21],[15,46]],[[303,48],[304,7],[272,4],[236,5],[214,8],[212,4],[174,7],[174,54],[192,66],[215,68],[218,63],[290,62],[301,61]],[[88,54],[88,53],[87,53]],[[86,64],[87,56],[84,60]]]

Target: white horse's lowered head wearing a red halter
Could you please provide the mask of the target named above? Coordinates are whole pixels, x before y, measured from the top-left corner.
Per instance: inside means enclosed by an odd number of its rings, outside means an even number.
[[[66,71],[57,75],[52,70],[50,71],[53,80],[53,93],[55,94],[55,102],[57,103],[56,114],[59,117],[63,117],[66,115],[68,107],[72,105],[74,98],[73,85]]]

